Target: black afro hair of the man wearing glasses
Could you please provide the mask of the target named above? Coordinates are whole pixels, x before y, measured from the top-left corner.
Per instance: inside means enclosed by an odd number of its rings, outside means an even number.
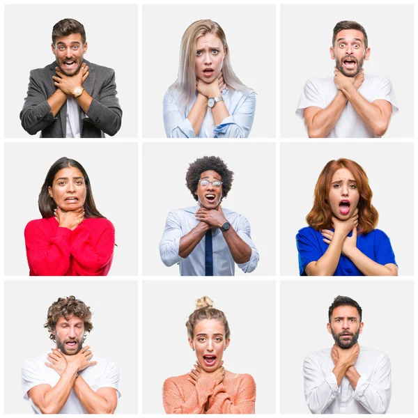
[[[186,173],[186,185],[192,193],[194,200],[198,200],[198,197],[194,192],[197,190],[197,184],[199,183],[201,173],[204,171],[213,170],[216,171],[222,178],[222,198],[226,197],[229,190],[231,190],[233,182],[233,171],[226,167],[226,164],[219,157],[213,155],[208,157],[198,158],[195,162],[189,165],[189,169]]]

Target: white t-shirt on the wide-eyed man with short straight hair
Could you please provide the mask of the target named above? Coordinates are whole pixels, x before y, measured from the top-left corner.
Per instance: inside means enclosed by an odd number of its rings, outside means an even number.
[[[334,84],[334,77],[317,78],[313,77],[307,81],[296,114],[303,118],[303,111],[307,107],[316,106],[321,109],[327,108],[334,100],[337,88]],[[364,82],[359,88],[359,93],[369,102],[375,100],[387,100],[392,104],[392,114],[398,112],[395,93],[392,84],[385,75],[364,75]],[[339,120],[332,128],[327,138],[378,138],[372,130],[364,125],[350,102],[347,102]]]

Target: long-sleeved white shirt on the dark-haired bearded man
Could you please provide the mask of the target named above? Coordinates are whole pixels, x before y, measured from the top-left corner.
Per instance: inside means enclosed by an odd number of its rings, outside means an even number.
[[[331,349],[307,355],[303,364],[304,396],[314,414],[385,414],[391,395],[390,360],[382,351],[360,347],[355,389],[346,376],[338,387]]]

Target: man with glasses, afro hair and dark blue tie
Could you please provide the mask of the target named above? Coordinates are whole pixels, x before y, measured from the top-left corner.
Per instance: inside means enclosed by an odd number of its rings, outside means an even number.
[[[254,271],[258,251],[247,218],[221,207],[232,181],[219,157],[190,164],[186,183],[197,204],[169,213],[160,242],[165,265],[178,263],[182,276],[233,276],[235,263],[245,273]]]

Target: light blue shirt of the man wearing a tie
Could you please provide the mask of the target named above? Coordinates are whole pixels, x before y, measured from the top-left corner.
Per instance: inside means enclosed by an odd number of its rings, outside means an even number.
[[[170,212],[160,242],[162,262],[167,266],[178,263],[181,276],[205,275],[205,237],[194,247],[192,253],[187,258],[182,258],[178,255],[180,238],[199,224],[199,221],[194,217],[198,209],[199,204],[191,208],[177,209]],[[249,261],[238,264],[238,267],[245,273],[254,271],[258,264],[258,251],[251,241],[251,231],[247,218],[226,208],[222,208],[222,211],[235,232],[251,247]],[[235,262],[226,244],[223,232],[219,228],[212,228],[212,253],[213,275],[233,276],[235,274]]]

